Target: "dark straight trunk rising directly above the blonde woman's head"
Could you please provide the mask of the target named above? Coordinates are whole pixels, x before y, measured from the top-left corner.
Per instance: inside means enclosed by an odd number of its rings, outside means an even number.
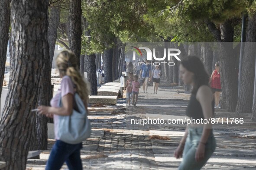
[[[81,41],[82,41],[82,9],[81,0],[70,0],[69,6],[70,31],[69,47],[77,57],[80,66]]]

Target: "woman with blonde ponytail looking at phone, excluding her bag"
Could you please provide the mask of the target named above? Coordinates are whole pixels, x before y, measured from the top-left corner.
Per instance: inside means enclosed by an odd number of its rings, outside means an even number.
[[[82,143],[74,145],[59,140],[56,125],[58,116],[69,116],[72,114],[75,92],[77,92],[84,101],[84,106],[87,109],[87,85],[80,75],[76,57],[71,51],[62,51],[56,58],[56,65],[59,69],[60,77],[62,78],[61,87],[52,98],[50,102],[51,107],[38,107],[40,114],[54,118],[55,125],[56,143],[52,148],[45,170],[59,170],[64,162],[66,162],[69,170],[82,170],[83,167],[80,157]],[[58,107],[60,95],[62,97],[62,107]]]

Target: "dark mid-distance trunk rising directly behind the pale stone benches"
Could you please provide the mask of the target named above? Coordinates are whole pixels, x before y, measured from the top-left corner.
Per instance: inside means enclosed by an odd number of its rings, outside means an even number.
[[[113,82],[112,78],[112,57],[113,57],[113,48],[104,50],[104,83]]]

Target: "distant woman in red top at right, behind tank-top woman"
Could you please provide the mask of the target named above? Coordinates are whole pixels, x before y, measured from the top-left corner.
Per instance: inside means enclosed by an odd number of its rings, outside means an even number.
[[[214,94],[215,106],[214,108],[220,109],[220,93],[221,93],[221,85],[220,85],[220,63],[215,63],[215,69],[211,74],[210,83],[212,93]]]

